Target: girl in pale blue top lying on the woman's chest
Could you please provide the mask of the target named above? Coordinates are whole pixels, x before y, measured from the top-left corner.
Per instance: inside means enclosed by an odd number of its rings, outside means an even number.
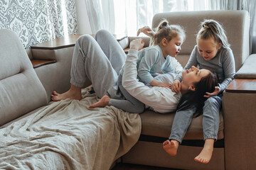
[[[159,72],[180,74],[183,67],[175,59],[181,50],[181,45],[185,39],[185,31],[180,26],[169,25],[163,20],[159,23],[157,31],[152,39],[151,46],[139,51],[137,60],[137,79],[144,84],[151,86],[161,86],[171,88],[171,84],[154,79]],[[124,66],[119,72],[118,87],[124,98],[110,98],[103,96],[100,101],[89,106],[90,108],[115,106],[130,113],[142,113],[145,105],[141,101],[131,96],[122,86],[122,75]],[[109,91],[111,93],[111,91]]]

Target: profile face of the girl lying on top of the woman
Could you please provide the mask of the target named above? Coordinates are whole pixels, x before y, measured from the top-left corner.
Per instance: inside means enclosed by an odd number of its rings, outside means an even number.
[[[181,38],[180,35],[177,35],[175,38],[171,39],[169,42],[164,38],[162,40],[162,51],[164,58],[166,58],[167,55],[170,55],[171,57],[176,57],[178,55],[178,52],[181,51],[181,45],[183,43],[183,38]]]

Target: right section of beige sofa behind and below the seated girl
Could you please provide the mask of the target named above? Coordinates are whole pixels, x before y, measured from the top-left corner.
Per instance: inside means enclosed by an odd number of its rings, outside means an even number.
[[[215,19],[223,24],[235,57],[236,78],[250,78],[247,88],[256,90],[256,55],[249,50],[249,18],[246,11],[191,11],[158,13],[153,18],[152,28],[166,18],[170,24],[179,24],[186,30],[186,41],[176,59],[183,67],[188,61],[194,45],[196,33],[204,19]],[[131,41],[134,38],[128,38]],[[145,41],[148,42],[148,38]],[[148,45],[148,43],[146,43]],[[241,80],[241,79],[240,79]],[[235,81],[237,82],[237,81]],[[122,162],[164,166],[175,169],[255,169],[256,142],[256,91],[238,91],[235,84],[223,95],[223,110],[220,111],[218,141],[215,142],[213,157],[209,164],[194,162],[193,158],[203,147],[202,118],[193,118],[191,126],[178,148],[176,157],[171,157],[162,149],[170,135],[174,114],[159,114],[146,111],[141,114],[142,132],[137,144],[122,157]],[[234,85],[235,84],[235,85]],[[255,85],[252,85],[255,84]],[[252,87],[252,86],[253,87]],[[238,93],[239,92],[239,93]]]

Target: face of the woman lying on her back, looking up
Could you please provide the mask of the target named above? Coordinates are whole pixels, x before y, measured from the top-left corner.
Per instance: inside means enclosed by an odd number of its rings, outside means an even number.
[[[201,81],[201,79],[206,77],[208,74],[210,74],[210,70],[198,69],[192,66],[191,69],[186,69],[186,71],[182,72],[182,81],[183,84],[190,87]]]

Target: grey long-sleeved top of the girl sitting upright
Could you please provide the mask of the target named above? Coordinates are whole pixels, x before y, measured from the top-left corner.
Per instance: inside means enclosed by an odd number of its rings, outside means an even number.
[[[197,45],[193,48],[191,56],[184,69],[190,69],[191,66],[199,67],[199,69],[210,69],[216,74],[220,80],[220,90],[224,91],[228,84],[235,76],[235,60],[233,52],[230,48],[221,47],[213,59],[206,61],[198,52]],[[175,79],[182,80],[182,75],[178,74]]]

